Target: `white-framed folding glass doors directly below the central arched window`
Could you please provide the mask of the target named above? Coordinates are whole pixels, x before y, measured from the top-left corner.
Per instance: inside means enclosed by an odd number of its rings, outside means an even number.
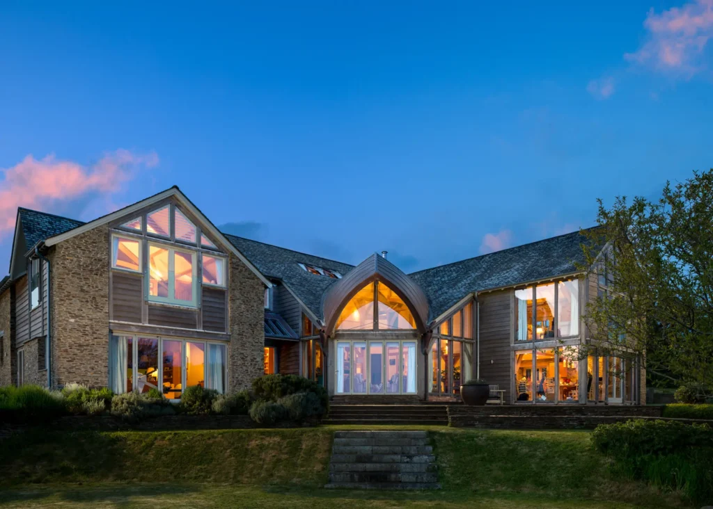
[[[338,341],[335,376],[337,394],[416,394],[416,341]]]

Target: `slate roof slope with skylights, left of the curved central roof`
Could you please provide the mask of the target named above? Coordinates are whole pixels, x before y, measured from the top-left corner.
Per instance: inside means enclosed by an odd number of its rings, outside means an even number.
[[[322,319],[322,295],[324,290],[338,280],[327,276],[317,276],[305,271],[299,263],[337,271],[344,276],[354,268],[348,263],[320,258],[319,256],[292,251],[292,249],[279,248],[263,242],[252,241],[249,238],[237,237],[225,233],[233,246],[240,249],[268,278],[278,279],[287,286],[302,305],[318,319]]]

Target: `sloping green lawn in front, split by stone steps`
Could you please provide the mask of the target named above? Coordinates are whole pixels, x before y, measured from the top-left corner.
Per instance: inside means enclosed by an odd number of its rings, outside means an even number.
[[[30,434],[2,444],[0,506],[686,506],[675,494],[612,478],[586,431],[436,426],[442,490],[325,490],[334,429]]]

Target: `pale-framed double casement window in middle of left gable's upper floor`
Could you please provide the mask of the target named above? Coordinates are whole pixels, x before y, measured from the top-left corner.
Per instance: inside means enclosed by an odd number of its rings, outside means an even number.
[[[148,300],[196,305],[196,253],[150,243]]]

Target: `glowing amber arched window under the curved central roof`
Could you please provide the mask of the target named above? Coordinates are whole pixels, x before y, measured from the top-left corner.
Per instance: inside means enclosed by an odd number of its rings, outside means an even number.
[[[377,305],[374,305],[376,288]],[[337,320],[338,330],[415,329],[416,320],[404,300],[384,283],[369,283],[344,306]]]

